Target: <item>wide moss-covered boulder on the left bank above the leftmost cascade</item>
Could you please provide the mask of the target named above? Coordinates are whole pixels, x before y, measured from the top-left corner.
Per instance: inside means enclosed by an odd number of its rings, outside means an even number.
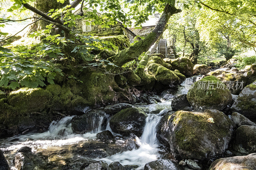
[[[42,111],[51,98],[52,93],[41,88],[20,88],[7,96],[11,106],[24,112]]]

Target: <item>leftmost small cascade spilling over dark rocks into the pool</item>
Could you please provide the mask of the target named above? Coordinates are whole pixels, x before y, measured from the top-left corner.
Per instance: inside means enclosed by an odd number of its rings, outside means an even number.
[[[61,136],[66,137],[68,135],[73,134],[73,130],[71,128],[71,120],[74,116],[66,116],[59,121],[52,121],[48,130],[52,137]]]

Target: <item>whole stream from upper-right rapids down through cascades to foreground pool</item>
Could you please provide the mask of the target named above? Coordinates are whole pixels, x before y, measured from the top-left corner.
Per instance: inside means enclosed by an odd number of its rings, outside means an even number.
[[[17,135],[14,137],[0,139],[1,150],[12,170],[16,168],[12,160],[15,158],[18,149],[22,146],[32,148],[32,152],[48,160],[48,169],[63,169],[63,166],[69,165],[75,160],[86,162],[105,161],[108,164],[119,161],[122,165],[138,165],[137,169],[143,169],[145,164],[159,158],[166,157],[164,148],[156,138],[156,126],[166,109],[171,108],[173,97],[187,94],[189,84],[198,81],[201,76],[187,78],[175,90],[165,90],[158,96],[161,102],[156,104],[135,104],[133,107],[141,107],[148,114],[146,124],[141,137],[136,137],[138,148],[132,150],[122,150],[126,138],[120,134],[112,132],[108,125],[102,129],[101,122],[103,117],[93,118],[93,131],[85,134],[75,134],[71,128],[71,120],[74,115],[66,116],[59,121],[52,121],[48,131],[44,133],[30,133]],[[83,108],[84,113],[89,108]],[[96,138],[96,134],[109,130],[115,137],[115,141],[102,142]],[[71,167],[69,167],[72,169]],[[46,168],[47,169],[47,168]],[[64,168],[65,169],[65,168]],[[68,168],[66,168],[68,169]]]

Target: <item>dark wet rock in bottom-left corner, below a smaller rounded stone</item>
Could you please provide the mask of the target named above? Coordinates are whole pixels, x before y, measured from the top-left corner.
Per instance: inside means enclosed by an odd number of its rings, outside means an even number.
[[[46,160],[32,153],[17,153],[13,164],[18,170],[44,169]]]

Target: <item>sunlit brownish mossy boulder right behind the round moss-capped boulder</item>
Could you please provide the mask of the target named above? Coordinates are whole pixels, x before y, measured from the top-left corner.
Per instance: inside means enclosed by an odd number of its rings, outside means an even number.
[[[224,73],[217,76],[217,78],[227,85],[231,93],[235,95],[238,95],[246,84],[246,77],[241,74]]]

